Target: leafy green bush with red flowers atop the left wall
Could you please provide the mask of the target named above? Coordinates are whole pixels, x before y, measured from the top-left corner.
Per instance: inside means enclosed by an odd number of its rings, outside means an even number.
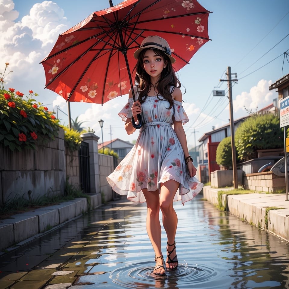
[[[40,102],[36,103],[33,91],[26,100],[22,92],[0,90],[0,144],[11,151],[35,149],[35,144],[46,143],[58,135],[59,120]]]

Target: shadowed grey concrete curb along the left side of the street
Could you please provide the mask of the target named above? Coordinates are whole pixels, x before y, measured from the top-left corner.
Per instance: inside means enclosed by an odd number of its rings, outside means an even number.
[[[101,205],[101,194],[90,195],[90,209]],[[58,205],[39,208],[16,214],[0,221],[0,251],[15,249],[34,238],[46,234],[58,225],[71,221],[88,211],[86,198],[63,202]]]

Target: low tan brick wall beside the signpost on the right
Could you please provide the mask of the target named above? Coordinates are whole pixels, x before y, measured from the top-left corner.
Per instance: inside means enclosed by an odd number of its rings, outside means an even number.
[[[244,187],[253,191],[275,193],[285,189],[285,176],[276,176],[273,172],[246,174]]]

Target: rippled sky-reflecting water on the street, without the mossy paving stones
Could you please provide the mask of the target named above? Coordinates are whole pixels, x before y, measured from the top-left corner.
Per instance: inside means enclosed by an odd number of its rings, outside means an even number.
[[[146,210],[142,205],[118,209],[103,213],[106,218],[113,214],[113,218],[94,237],[100,250],[98,264],[79,277],[75,285],[88,282],[106,284],[107,288],[289,288],[288,244],[200,199],[184,207],[175,203],[179,267],[167,272],[166,277],[156,277],[151,274],[153,251],[144,229]],[[94,274],[99,271],[105,274],[96,278]]]

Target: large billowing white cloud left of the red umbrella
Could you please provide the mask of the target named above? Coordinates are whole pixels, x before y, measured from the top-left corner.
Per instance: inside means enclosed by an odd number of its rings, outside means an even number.
[[[15,22],[18,15],[13,1],[0,0],[0,66],[8,62],[8,70],[13,71],[5,78],[9,87],[23,93],[32,89],[41,96],[45,76],[39,62],[49,53],[58,35],[68,29],[67,19],[63,9],[52,1],[36,3],[29,15]]]

